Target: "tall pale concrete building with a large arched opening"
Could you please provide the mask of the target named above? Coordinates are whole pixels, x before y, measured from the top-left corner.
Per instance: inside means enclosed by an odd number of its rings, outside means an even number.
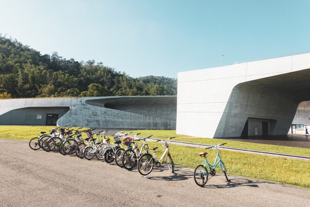
[[[293,120],[308,119],[295,114],[310,100],[309,72],[309,53],[180,72],[176,132],[209,138],[286,135]]]

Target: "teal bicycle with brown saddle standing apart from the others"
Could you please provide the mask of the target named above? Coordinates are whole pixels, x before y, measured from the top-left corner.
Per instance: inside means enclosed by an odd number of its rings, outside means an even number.
[[[224,165],[224,162],[221,160],[220,153],[219,153],[219,146],[222,146],[224,144],[227,144],[227,143],[223,143],[219,145],[211,145],[210,147],[206,148],[206,149],[212,148],[213,150],[217,151],[217,155],[216,155],[213,165],[209,164],[206,158],[206,155],[208,154],[207,152],[199,152],[199,155],[201,157],[204,157],[205,160],[203,161],[202,164],[198,165],[194,171],[194,180],[197,185],[204,186],[208,181],[209,174],[212,176],[215,176],[215,168],[218,164],[220,164],[222,172],[225,174],[226,180],[229,182],[227,175],[226,175],[226,171],[227,171],[226,167]],[[210,169],[209,171],[207,170],[206,165],[208,165],[208,168]]]

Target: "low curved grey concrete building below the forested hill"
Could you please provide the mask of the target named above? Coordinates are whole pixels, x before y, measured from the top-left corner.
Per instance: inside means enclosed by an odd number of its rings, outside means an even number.
[[[175,129],[176,96],[0,100],[0,124]]]

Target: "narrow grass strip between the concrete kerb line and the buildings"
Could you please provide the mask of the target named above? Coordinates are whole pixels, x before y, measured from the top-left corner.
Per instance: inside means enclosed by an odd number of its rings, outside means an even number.
[[[152,138],[159,138],[159,139],[168,139],[169,137],[175,137],[173,139],[175,141],[193,142],[193,143],[209,144],[209,145],[218,145],[218,144],[226,142],[227,144],[225,146],[227,147],[249,149],[249,150],[259,150],[259,151],[267,151],[267,152],[277,152],[277,153],[291,154],[291,155],[310,156],[310,149],[301,148],[301,147],[266,145],[266,144],[237,142],[237,141],[211,139],[211,138],[197,138],[197,137],[181,138],[181,137],[189,137],[189,136],[176,134],[175,130],[136,130],[132,134],[135,134],[135,133],[141,133],[140,135],[138,135],[141,137],[147,137],[149,135],[153,135]]]

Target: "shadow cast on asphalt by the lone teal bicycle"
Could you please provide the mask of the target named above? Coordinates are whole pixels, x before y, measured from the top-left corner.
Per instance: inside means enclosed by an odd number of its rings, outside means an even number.
[[[212,184],[212,177],[208,179],[208,182],[206,183],[205,186],[201,186],[203,188],[233,188],[233,187],[243,187],[243,186],[248,186],[248,187],[259,187],[258,184],[263,183],[260,181],[253,181],[249,180],[246,178],[233,178],[229,179],[229,182],[226,181],[226,178],[224,175],[216,175],[216,176],[222,176],[223,182],[226,182],[225,184]],[[209,183],[211,182],[211,183]]]

